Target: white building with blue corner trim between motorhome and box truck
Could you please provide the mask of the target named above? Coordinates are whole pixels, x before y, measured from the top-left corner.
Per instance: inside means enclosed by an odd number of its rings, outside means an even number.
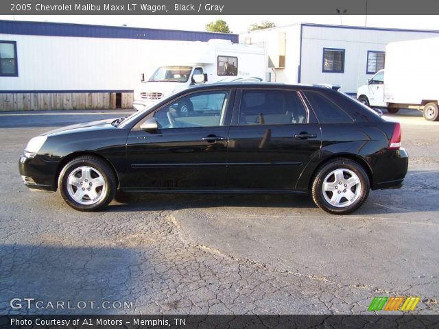
[[[439,31],[301,23],[241,34],[239,42],[265,48],[268,81],[334,84],[355,95],[383,69],[389,42],[435,36]]]

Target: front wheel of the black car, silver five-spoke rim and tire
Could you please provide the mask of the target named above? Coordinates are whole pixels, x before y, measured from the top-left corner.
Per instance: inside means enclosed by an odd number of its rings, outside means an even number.
[[[115,197],[115,173],[102,159],[81,156],[67,163],[58,185],[64,201],[80,211],[93,211],[108,205]]]

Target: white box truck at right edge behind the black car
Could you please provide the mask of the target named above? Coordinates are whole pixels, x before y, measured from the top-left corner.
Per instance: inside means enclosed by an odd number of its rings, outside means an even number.
[[[439,38],[390,42],[385,67],[357,90],[357,99],[371,107],[415,108],[428,121],[439,121]]]

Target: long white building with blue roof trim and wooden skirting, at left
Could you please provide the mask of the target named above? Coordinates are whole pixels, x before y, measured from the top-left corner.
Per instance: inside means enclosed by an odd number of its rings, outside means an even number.
[[[182,43],[236,34],[0,21],[0,110],[131,108],[141,73]]]

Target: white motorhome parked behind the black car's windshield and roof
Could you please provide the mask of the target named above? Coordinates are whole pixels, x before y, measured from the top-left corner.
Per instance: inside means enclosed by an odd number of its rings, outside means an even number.
[[[254,45],[215,39],[185,42],[178,47],[160,49],[159,53],[163,53],[161,65],[148,78],[142,73],[141,83],[134,88],[136,110],[148,108],[193,84],[265,80],[264,49]],[[190,104],[181,104],[178,108],[180,115],[190,111]]]

